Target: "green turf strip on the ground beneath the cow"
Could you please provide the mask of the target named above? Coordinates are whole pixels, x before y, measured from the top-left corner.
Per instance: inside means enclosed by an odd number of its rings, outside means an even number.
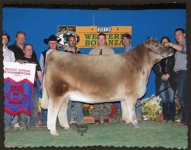
[[[187,148],[187,128],[162,122],[142,121],[140,128],[124,123],[89,124],[87,132],[81,136],[72,125],[68,131],[57,127],[59,136],[50,135],[46,128],[26,131],[6,131],[5,147],[39,146],[127,146]]]

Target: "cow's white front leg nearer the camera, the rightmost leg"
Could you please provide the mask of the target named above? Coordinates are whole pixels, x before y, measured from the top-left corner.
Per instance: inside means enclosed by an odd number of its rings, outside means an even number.
[[[132,98],[128,98],[128,100],[126,100],[125,102],[126,102],[127,114],[128,114],[128,120],[126,124],[130,122],[133,124],[134,128],[139,128],[139,123],[137,121],[137,117],[135,113],[136,100]]]

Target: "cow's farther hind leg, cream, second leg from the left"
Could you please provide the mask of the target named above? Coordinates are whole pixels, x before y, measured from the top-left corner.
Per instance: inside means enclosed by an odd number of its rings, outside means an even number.
[[[67,107],[68,107],[68,101],[64,100],[58,112],[58,119],[59,119],[60,125],[66,130],[70,128],[68,124],[68,119],[67,119]]]

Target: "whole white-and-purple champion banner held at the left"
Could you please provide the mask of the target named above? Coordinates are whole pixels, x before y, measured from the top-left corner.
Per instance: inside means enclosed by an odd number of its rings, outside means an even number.
[[[30,115],[36,64],[4,62],[4,111]]]

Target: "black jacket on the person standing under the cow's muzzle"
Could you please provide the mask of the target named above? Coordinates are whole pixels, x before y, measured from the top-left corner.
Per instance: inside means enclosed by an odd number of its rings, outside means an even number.
[[[170,85],[172,86],[174,91],[176,90],[174,64],[175,64],[175,58],[173,55],[171,57],[161,60],[159,63],[153,66],[153,71],[156,74],[156,80],[155,80],[156,94],[159,92],[159,87],[162,83],[161,77],[163,74],[166,74],[166,73],[170,75],[170,78],[168,79],[170,82]]]

